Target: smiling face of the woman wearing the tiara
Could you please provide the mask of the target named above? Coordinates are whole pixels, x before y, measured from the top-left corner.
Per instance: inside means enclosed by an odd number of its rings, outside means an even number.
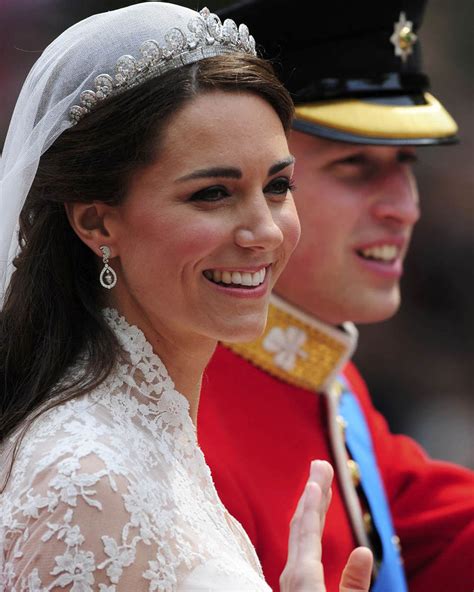
[[[198,95],[111,213],[113,304],[165,339],[257,337],[299,238],[292,174],[268,103],[250,93]]]

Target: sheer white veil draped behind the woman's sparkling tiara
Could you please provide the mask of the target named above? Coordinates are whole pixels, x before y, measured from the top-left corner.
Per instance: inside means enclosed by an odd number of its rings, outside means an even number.
[[[140,58],[147,40],[167,44],[167,34],[199,13],[167,2],[144,2],[93,15],[67,29],[42,53],[16,102],[0,162],[0,306],[18,251],[18,217],[41,155],[73,125],[69,111],[100,74],[114,76],[117,60]],[[228,51],[215,44],[216,51]],[[188,61],[202,59],[189,57]]]

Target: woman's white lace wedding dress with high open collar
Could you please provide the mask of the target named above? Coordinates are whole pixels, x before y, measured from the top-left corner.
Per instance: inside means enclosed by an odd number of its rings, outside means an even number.
[[[0,590],[269,592],[186,398],[143,333],[105,315],[124,360],[27,431],[0,496]]]

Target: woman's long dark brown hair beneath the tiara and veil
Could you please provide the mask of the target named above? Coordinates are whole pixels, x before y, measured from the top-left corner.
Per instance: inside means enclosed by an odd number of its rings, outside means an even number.
[[[72,231],[64,204],[120,203],[132,176],[157,157],[171,116],[214,89],[261,96],[289,130],[293,105],[271,66],[229,54],[104,101],[42,156],[21,212],[21,250],[0,313],[0,440],[26,418],[25,429],[39,413],[100,384],[118,355],[101,314],[97,258]],[[84,373],[61,385],[79,354]]]

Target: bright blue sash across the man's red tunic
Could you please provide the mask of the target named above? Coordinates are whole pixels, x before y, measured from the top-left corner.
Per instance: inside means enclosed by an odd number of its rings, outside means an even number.
[[[372,438],[364,414],[347,381],[339,402],[339,414],[347,423],[346,445],[360,470],[360,485],[369,504],[374,527],[382,542],[382,563],[371,592],[408,592],[402,559],[395,543],[392,517],[375,459]],[[396,459],[394,459],[396,462]],[[394,538],[395,537],[395,538]]]

